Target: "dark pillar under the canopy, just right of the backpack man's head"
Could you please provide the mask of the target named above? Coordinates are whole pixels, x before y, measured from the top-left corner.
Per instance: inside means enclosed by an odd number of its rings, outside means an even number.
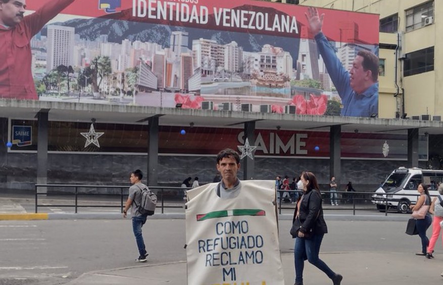
[[[154,116],[148,119],[147,134],[147,185],[158,185],[159,166],[159,117]]]

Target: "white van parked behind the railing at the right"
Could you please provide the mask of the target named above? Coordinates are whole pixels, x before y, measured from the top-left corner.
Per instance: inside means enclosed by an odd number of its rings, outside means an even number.
[[[399,167],[392,171],[372,195],[372,203],[380,212],[385,211],[386,195],[388,208],[396,208],[399,213],[407,213],[409,205],[417,202],[417,187],[424,183],[431,196],[437,196],[438,183],[443,181],[443,170]],[[396,194],[396,195],[389,195]],[[413,194],[402,196],[400,194]]]

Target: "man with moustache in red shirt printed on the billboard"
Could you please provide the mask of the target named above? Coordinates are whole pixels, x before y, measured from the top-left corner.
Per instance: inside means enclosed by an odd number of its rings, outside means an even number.
[[[52,0],[23,16],[26,0],[0,0],[0,98],[37,100],[31,38],[75,0]]]

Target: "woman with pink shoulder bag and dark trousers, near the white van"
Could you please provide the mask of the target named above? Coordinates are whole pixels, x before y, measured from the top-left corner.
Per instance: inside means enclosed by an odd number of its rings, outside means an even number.
[[[431,196],[429,195],[428,187],[420,183],[417,188],[420,197],[415,205],[409,206],[412,210],[412,217],[417,219],[416,227],[418,230],[418,235],[421,239],[421,252],[416,253],[416,255],[426,255],[426,249],[429,245],[429,239],[426,236],[426,230],[432,223],[431,214],[429,213],[429,207],[431,205]]]

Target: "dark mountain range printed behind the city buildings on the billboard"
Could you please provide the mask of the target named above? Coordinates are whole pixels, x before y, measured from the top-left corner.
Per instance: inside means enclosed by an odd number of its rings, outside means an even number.
[[[272,13],[275,13],[275,11]],[[114,19],[117,17],[118,19]],[[213,15],[209,17],[213,17]],[[131,21],[126,19],[131,19]],[[134,19],[139,21],[133,21]],[[287,40],[282,40],[282,37],[274,35],[211,30],[208,28],[201,29],[183,27],[182,25],[173,26],[166,25],[166,22],[165,24],[152,24],[146,23],[143,20],[133,18],[132,10],[126,10],[122,11],[122,13],[107,15],[103,18],[72,19],[53,24],[73,27],[75,28],[75,33],[80,38],[87,40],[95,40],[100,35],[108,35],[109,42],[121,43],[124,39],[130,41],[139,40],[142,42],[155,42],[161,44],[163,48],[168,48],[173,31],[186,31],[189,34],[189,49],[192,49],[192,40],[205,38],[216,40],[219,44],[235,41],[245,52],[260,52],[264,44],[270,44],[283,48],[293,56],[298,54],[299,39],[296,36],[293,38],[283,38]],[[46,35],[46,26],[41,30],[41,34]]]

